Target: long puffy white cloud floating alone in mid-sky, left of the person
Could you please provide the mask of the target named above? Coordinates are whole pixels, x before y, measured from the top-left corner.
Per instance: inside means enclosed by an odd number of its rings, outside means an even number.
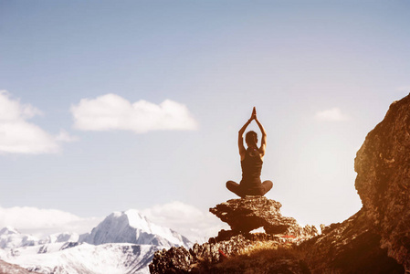
[[[181,103],[164,100],[159,105],[146,100],[131,103],[116,94],[82,99],[71,107],[74,127],[82,131],[195,130],[196,121]]]

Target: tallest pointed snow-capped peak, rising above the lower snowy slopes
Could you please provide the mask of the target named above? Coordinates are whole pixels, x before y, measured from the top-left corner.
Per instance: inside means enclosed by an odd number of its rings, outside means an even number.
[[[168,227],[152,224],[136,210],[114,212],[107,216],[89,235],[80,237],[91,245],[131,243],[162,246],[164,248],[190,248],[191,242]]]

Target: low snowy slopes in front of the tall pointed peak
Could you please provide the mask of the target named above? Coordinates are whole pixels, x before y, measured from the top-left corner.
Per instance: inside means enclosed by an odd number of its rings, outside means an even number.
[[[20,256],[4,260],[47,274],[147,274],[147,266],[160,247],[131,244],[93,246],[84,243],[44,254],[34,253],[32,251],[36,250],[30,248],[34,247],[26,248]]]

